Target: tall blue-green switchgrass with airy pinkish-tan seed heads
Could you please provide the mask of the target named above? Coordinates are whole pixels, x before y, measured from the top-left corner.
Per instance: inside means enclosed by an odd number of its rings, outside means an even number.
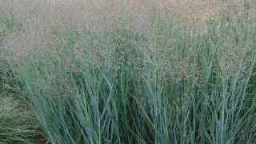
[[[193,21],[153,1],[30,4],[2,58],[50,142],[255,142],[254,17]]]

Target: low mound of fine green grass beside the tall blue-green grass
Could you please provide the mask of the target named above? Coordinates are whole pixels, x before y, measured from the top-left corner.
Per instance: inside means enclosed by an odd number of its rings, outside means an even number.
[[[0,143],[46,142],[41,131],[24,102],[10,94],[0,94]]]

